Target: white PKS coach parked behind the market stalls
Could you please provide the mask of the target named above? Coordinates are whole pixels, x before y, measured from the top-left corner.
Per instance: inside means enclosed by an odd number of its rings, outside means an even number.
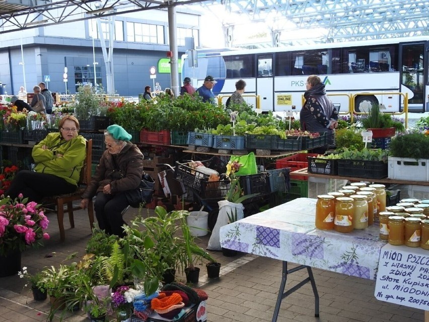
[[[308,75],[319,75],[328,94],[332,93],[408,93],[412,112],[429,111],[429,36],[391,38],[359,42],[324,43],[309,46],[240,49],[229,51],[198,50],[197,67],[182,56],[182,81],[192,79],[201,86],[205,76],[218,83],[215,95],[230,95],[235,83],[243,79],[245,94],[261,97],[263,110],[301,109]],[[347,96],[331,96],[341,111],[349,107]],[[255,106],[256,99],[246,98]],[[399,95],[358,95],[355,110],[366,110],[378,101],[387,112],[401,109]],[[226,99],[223,100],[226,102]]]

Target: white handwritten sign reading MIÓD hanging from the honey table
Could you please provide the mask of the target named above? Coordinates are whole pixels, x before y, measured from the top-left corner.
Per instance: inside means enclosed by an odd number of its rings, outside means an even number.
[[[381,301],[429,310],[429,251],[383,246],[374,295]]]

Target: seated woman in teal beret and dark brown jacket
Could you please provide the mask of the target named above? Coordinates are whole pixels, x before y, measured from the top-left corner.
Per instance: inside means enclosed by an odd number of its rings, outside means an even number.
[[[82,195],[81,207],[88,207],[96,196],[94,209],[98,225],[108,234],[124,236],[122,211],[128,206],[124,192],[136,189],[143,174],[143,155],[119,125],[110,125],[104,132],[106,151],[95,176]]]

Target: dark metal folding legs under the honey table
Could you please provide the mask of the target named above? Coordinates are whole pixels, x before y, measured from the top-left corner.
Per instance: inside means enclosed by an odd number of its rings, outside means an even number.
[[[307,269],[308,277],[305,280],[299,282],[294,287],[292,287],[290,290],[284,292],[284,287],[286,286],[288,274],[297,272],[297,271],[305,269],[305,268]],[[280,282],[280,288],[278,290],[277,301],[275,303],[274,313],[272,314],[272,320],[271,320],[272,322],[277,321],[278,312],[280,311],[280,304],[281,304],[281,301],[283,300],[283,298],[291,295],[292,293],[294,293],[296,290],[298,290],[299,288],[301,288],[303,285],[305,285],[308,282],[311,283],[311,287],[313,288],[314,316],[319,317],[319,293],[317,292],[317,287],[316,287],[316,283],[314,281],[313,271],[311,270],[311,267],[306,266],[306,265],[300,265],[300,266],[293,268],[293,269],[288,271],[288,262],[286,262],[286,261],[282,262],[281,282]]]

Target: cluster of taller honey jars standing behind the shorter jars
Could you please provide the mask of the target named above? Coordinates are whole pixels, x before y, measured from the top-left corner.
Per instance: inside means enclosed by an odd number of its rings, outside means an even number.
[[[336,192],[317,196],[316,228],[338,232],[365,229],[383,211],[386,211],[385,185],[354,182]]]

